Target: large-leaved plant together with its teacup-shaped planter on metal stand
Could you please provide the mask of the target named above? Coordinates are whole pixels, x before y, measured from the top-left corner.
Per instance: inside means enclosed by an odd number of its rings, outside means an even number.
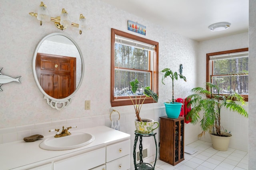
[[[135,79],[130,82],[130,87],[124,88],[121,90],[121,92],[118,93],[118,96],[126,93],[128,94],[130,100],[132,101],[132,104],[135,109],[135,114],[137,119],[135,119],[135,127],[137,133],[141,134],[148,134],[151,133],[154,129],[157,129],[159,126],[159,123],[157,121],[154,121],[153,119],[142,119],[140,117],[140,109],[146,100],[146,98],[152,97],[152,99],[156,102],[158,102],[158,95],[153,92],[149,86],[142,86],[141,83]],[[140,87],[139,87],[140,86]],[[132,93],[135,95],[135,99],[131,94],[129,94],[128,90],[131,90]],[[142,93],[140,92],[142,90]],[[139,93],[138,93],[139,92]],[[142,98],[142,95],[145,95],[145,98]],[[156,127],[154,127],[154,124],[157,124]]]

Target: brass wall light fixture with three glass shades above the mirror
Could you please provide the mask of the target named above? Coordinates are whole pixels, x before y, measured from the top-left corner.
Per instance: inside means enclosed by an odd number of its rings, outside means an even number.
[[[68,26],[78,27],[80,34],[82,34],[83,28],[86,25],[86,18],[83,16],[83,14],[80,14],[79,24],[73,23],[70,21],[70,16],[64,8],[62,8],[60,16],[55,18],[50,17],[47,6],[44,4],[44,2],[41,2],[38,8],[38,13],[30,12],[29,14],[30,16],[36,17],[40,21],[40,25],[42,25],[42,22],[53,21],[55,26],[61,30],[66,29]]]

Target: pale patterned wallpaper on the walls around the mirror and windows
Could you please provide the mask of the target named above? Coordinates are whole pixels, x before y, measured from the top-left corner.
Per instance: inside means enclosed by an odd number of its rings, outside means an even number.
[[[78,17],[82,13],[86,17],[88,27],[80,35],[76,27],[68,27],[62,31],[57,29],[52,22],[45,22],[40,26],[39,21],[28,14],[29,12],[37,12],[39,0],[6,0],[1,2],[0,20],[4,24],[1,26],[0,34],[0,67],[4,67],[3,74],[22,77],[20,78],[21,84],[12,82],[1,86],[3,92],[0,92],[0,144],[3,137],[6,142],[20,139],[17,137],[17,131],[21,127],[27,131],[38,127],[38,125],[40,127],[42,124],[48,128],[60,124],[79,123],[80,121],[86,122],[86,125],[82,125],[83,127],[88,125],[110,126],[111,28],[158,41],[159,71],[166,67],[178,71],[179,65],[183,64],[183,74],[186,76],[187,82],[175,82],[175,98],[185,98],[190,94],[190,89],[200,86],[204,82],[205,53],[248,47],[246,33],[198,43],[143,18],[113,8],[100,0],[44,0],[44,3],[48,6],[52,17],[59,16],[61,9],[65,8],[69,12],[72,22],[78,23]],[[146,36],[128,31],[127,20],[146,25]],[[85,63],[82,86],[74,96],[70,106],[62,111],[52,109],[46,104],[42,93],[36,86],[32,73],[32,58],[38,42],[46,35],[54,32],[65,33],[72,37],[79,45]],[[226,43],[226,39],[229,43]],[[160,72],[158,80],[159,102],[145,104],[142,107],[142,116],[144,117],[159,120],[159,116],[165,114],[164,102],[170,99],[171,89],[168,85],[170,82],[166,81],[167,85],[161,84],[161,78]],[[84,109],[85,100],[91,101],[90,110]],[[122,116],[120,130],[132,135],[135,116],[133,107],[122,106],[114,109],[118,110]],[[239,117],[230,118],[231,120],[239,119]],[[244,120],[243,122],[246,123]],[[196,136],[200,132],[200,128],[190,124],[186,125],[185,128],[185,144],[192,143],[197,139]],[[10,139],[11,137],[14,139],[6,140],[6,138]],[[133,138],[134,135],[131,136],[132,140]],[[249,140],[252,142],[253,139]],[[146,144],[150,146],[152,142],[149,141]]]

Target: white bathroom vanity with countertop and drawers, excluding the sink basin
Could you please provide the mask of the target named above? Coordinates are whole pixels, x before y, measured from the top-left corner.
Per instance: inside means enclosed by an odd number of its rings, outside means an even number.
[[[80,129],[95,140],[70,150],[44,150],[44,139],[26,143],[18,141],[0,145],[2,170],[128,170],[130,169],[130,135],[106,126]],[[50,137],[50,136],[49,136]],[[64,138],[64,137],[63,137]],[[47,139],[47,137],[46,137]],[[15,160],[15,161],[13,161]]]

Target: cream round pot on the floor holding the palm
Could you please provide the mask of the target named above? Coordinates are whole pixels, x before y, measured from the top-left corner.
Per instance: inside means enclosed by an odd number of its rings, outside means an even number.
[[[224,135],[227,135],[228,137],[220,137],[220,136],[210,134],[210,137],[212,139],[212,147],[216,150],[226,151],[228,150],[229,141],[232,135],[226,132],[221,132],[221,133]]]

